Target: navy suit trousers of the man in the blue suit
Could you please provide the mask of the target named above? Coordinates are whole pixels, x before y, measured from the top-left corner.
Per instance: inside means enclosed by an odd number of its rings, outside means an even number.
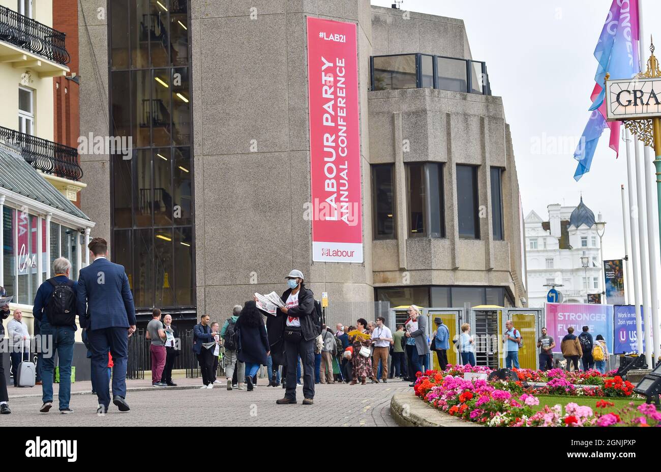
[[[87,332],[92,351],[92,377],[97,389],[98,403],[108,408],[108,351],[112,355],[112,395],[126,398],[126,359],[128,358],[128,329],[110,327]]]

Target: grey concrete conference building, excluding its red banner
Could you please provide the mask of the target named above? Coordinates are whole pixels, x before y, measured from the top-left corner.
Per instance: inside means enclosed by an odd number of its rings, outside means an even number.
[[[284,277],[292,268],[303,271],[317,298],[327,292],[329,323],[373,317],[379,300],[391,306],[525,305],[510,131],[501,98],[490,95],[486,65],[472,60],[463,21],[373,7],[366,0],[161,0],[145,2],[139,14],[132,5],[113,0],[108,8],[106,1],[88,0],[79,11],[81,135],[149,128],[151,141],[136,146],[136,162],[130,165],[109,153],[82,157],[94,190],[83,191],[81,208],[95,216],[94,235],[111,242],[112,258],[131,265],[134,290],[145,289],[137,284],[152,284],[153,304],[138,304],[141,313],[155,304],[180,319],[200,313],[223,319],[254,292],[284,292]],[[311,222],[305,217],[311,199],[307,17],[357,25],[360,264],[312,258]],[[124,18],[129,26],[117,26]],[[124,44],[116,42],[124,36]],[[168,40],[165,52],[159,52]],[[401,61],[378,59],[405,53]],[[424,74],[430,61],[434,77]],[[190,85],[175,91],[178,71]],[[116,79],[122,73],[131,83],[126,92]],[[151,95],[145,92],[150,87]],[[172,91],[171,97],[163,95],[164,89]],[[130,97],[126,106],[115,99],[123,95]],[[178,95],[189,101],[183,104]],[[159,100],[178,118],[163,125],[150,114],[150,124],[143,123],[136,111],[139,98],[151,104]],[[131,111],[124,114],[123,108]],[[185,113],[190,123],[184,126]],[[124,116],[130,123],[122,128]],[[170,140],[157,143],[165,136],[163,126],[169,126]],[[179,140],[182,128],[190,130],[190,139]],[[160,151],[166,148],[171,155]],[[173,199],[159,200],[159,166],[180,159],[175,154],[181,149],[190,150],[190,167],[182,165],[189,193],[173,164],[167,174],[172,188],[163,190]],[[145,169],[151,169],[151,184],[142,180],[140,159],[150,163]],[[133,167],[118,177],[122,165]],[[133,216],[118,225],[124,220],[117,194],[124,192],[117,191],[116,182],[129,180],[134,198],[122,208]],[[149,224],[138,217],[141,190],[152,196],[145,200]],[[164,208],[185,206],[177,196],[192,202],[185,223],[157,223],[165,221],[159,219]],[[186,228],[191,239],[177,239]],[[165,229],[173,232],[162,233]],[[128,233],[133,239],[124,237]],[[173,249],[157,242],[143,253],[136,250],[136,241],[145,244],[146,234],[161,241],[173,238]],[[182,243],[190,244],[190,267],[182,266],[183,256],[177,255]],[[151,279],[138,265],[146,255],[156,261],[147,269]],[[164,300],[159,293],[179,290],[177,280],[188,283],[181,272],[189,268],[194,268],[190,303],[179,303],[175,294],[172,305],[159,305]]]

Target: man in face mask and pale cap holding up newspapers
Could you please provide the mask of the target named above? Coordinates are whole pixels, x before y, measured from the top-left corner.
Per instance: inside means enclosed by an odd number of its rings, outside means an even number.
[[[312,290],[305,288],[303,272],[292,270],[286,277],[289,288],[282,294],[285,306],[278,309],[276,317],[269,317],[272,324],[267,324],[269,344],[272,354],[275,354],[272,333],[276,331],[275,325],[282,323],[282,346],[287,365],[285,397],[276,401],[278,405],[296,403],[296,365],[298,357],[303,362],[303,405],[312,405],[315,397],[315,339],[319,336],[319,329],[313,320],[315,309],[315,295]],[[255,301],[256,297],[254,297]],[[281,315],[282,313],[282,315]],[[267,321],[268,323],[268,321]],[[279,342],[279,339],[276,340]],[[274,363],[276,359],[274,358]]]

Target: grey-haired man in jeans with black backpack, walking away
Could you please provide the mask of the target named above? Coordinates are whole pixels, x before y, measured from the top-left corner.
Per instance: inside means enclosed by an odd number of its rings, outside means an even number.
[[[64,257],[53,261],[52,278],[46,280],[34,297],[32,313],[41,323],[40,335],[52,338],[51,352],[43,352],[41,413],[48,413],[53,406],[53,370],[55,353],[58,353],[59,369],[59,412],[73,413],[69,408],[71,399],[71,362],[75,344],[77,282],[69,279],[71,262]],[[42,342],[42,346],[47,346]]]

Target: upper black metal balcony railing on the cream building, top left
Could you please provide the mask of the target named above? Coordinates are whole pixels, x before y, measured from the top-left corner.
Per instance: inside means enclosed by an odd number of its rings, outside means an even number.
[[[0,40],[62,65],[68,64],[71,60],[65,47],[63,32],[2,6],[0,6]]]

